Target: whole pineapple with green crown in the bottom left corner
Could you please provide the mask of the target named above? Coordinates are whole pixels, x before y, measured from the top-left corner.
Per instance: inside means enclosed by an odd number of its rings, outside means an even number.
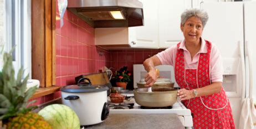
[[[23,68],[18,71],[17,79],[14,78],[12,65],[12,50],[3,55],[3,69],[0,71],[0,120],[7,123],[7,128],[51,128],[37,113],[29,112],[37,106],[28,99],[34,94],[36,86],[27,89],[28,75],[22,80]]]

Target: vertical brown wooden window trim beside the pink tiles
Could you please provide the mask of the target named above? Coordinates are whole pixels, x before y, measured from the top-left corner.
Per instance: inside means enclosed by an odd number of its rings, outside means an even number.
[[[32,0],[32,79],[40,87],[56,84],[56,0]]]

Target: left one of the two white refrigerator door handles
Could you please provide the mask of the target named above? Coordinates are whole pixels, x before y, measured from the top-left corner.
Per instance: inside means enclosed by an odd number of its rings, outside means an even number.
[[[239,54],[241,58],[242,65],[242,101],[245,99],[245,63],[244,63],[244,44],[243,42],[238,41],[239,44]]]

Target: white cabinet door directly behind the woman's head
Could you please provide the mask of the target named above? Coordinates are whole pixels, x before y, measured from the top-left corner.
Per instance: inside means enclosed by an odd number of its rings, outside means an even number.
[[[160,48],[176,45],[183,39],[180,29],[181,13],[192,8],[191,1],[161,0],[158,6]]]

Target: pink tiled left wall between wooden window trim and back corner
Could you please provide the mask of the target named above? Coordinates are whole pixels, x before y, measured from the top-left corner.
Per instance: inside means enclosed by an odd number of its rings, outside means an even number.
[[[66,10],[64,25],[57,29],[60,33],[56,34],[56,77],[60,86],[74,84],[75,76],[110,67],[110,51],[96,47],[94,28],[90,25]]]

